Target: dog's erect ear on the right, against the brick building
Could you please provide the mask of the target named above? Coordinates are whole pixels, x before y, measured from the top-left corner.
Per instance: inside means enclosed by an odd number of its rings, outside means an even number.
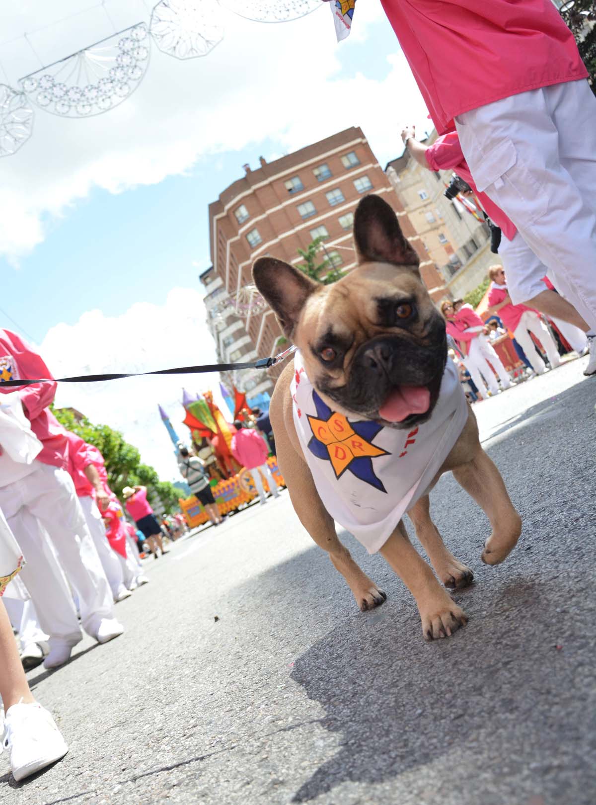
[[[354,244],[358,262],[391,262],[418,270],[420,258],[397,223],[396,214],[380,196],[364,196],[356,207]]]

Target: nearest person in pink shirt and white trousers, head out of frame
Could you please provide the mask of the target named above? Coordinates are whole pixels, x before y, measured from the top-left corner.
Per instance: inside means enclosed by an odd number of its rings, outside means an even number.
[[[457,129],[478,190],[596,328],[596,98],[557,8],[551,0],[381,3],[438,133]],[[514,303],[532,298],[516,293]]]

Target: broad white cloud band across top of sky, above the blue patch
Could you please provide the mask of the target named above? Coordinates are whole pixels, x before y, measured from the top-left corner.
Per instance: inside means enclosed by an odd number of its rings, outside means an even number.
[[[23,0],[20,6],[22,17],[0,12],[5,38],[31,31],[34,21],[39,26],[80,11],[78,0],[50,6]],[[139,0],[107,7],[120,28],[148,17]],[[360,3],[351,39],[339,47],[364,41],[382,14],[380,4]],[[380,159],[390,159],[401,151],[404,122],[423,127],[424,105],[397,40],[385,81],[362,75],[349,81],[339,74],[326,8],[282,25],[225,17],[223,43],[203,59],[181,62],[153,47],[137,92],[108,114],[70,120],[37,111],[31,140],[2,160],[0,254],[18,263],[43,241],[44,221],[67,213],[93,187],[123,192],[183,173],[202,155],[238,151],[265,138],[290,151],[347,126],[362,126]],[[109,33],[95,6],[31,35],[31,42],[46,60]],[[13,85],[39,68],[23,39],[2,47],[2,65]]]

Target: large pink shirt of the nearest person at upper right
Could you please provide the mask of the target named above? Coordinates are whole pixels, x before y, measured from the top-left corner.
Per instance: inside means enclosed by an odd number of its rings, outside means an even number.
[[[586,78],[551,0],[381,0],[439,134],[454,117]]]

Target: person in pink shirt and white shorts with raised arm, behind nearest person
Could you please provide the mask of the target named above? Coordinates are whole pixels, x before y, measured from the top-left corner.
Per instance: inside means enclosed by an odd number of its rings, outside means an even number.
[[[470,168],[464,159],[457,131],[442,134],[430,146],[416,140],[413,126],[403,130],[401,138],[409,154],[422,167],[427,167],[431,171],[453,169],[470,185],[480,208],[501,229],[499,257],[503,260],[507,271],[508,293],[511,299],[515,298],[519,300],[518,303],[527,303],[530,307],[538,308],[555,320],[555,323],[564,322],[563,328],[570,332],[576,344],[582,343],[582,336],[575,332],[576,329],[586,333],[587,341],[583,347],[586,345],[589,347],[590,358],[584,374],[596,374],[596,332],[590,330],[586,320],[567,299],[554,291],[552,283],[546,283],[545,287],[547,267],[532,252],[503,210],[486,193],[479,192],[476,188]]]

